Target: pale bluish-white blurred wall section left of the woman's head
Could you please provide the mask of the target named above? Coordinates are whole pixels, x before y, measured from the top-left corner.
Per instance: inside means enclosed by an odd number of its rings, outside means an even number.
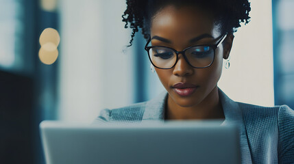
[[[92,122],[100,109],[132,102],[124,9],[125,1],[60,1],[60,120]]]

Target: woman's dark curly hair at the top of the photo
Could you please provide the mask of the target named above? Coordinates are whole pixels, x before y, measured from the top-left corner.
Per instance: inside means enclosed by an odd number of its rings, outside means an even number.
[[[198,5],[215,14],[222,32],[234,33],[241,23],[249,23],[251,10],[248,0],[127,0],[127,9],[123,13],[125,28],[132,29],[130,45],[138,28],[142,29],[144,38],[149,39],[151,18],[167,4],[175,6]]]

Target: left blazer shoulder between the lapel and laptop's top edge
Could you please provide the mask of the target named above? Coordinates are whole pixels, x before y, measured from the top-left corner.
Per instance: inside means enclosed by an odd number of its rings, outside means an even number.
[[[138,102],[116,109],[103,109],[93,124],[101,122],[138,122],[142,120],[146,102]]]

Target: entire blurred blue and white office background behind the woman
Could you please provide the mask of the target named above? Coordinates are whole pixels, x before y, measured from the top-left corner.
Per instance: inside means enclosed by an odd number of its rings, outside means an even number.
[[[0,0],[0,163],[45,163],[42,120],[90,124],[101,109],[164,91],[143,37],[126,48],[125,6],[124,0]],[[294,108],[293,8],[293,0],[252,1],[251,22],[235,33],[230,68],[219,81],[230,98]],[[49,27],[60,43],[48,65],[41,52],[52,46],[41,49],[39,37]]]

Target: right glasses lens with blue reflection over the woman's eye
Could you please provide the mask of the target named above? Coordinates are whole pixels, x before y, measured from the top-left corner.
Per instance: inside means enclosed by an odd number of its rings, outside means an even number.
[[[185,55],[192,66],[203,68],[212,64],[215,51],[210,46],[193,46],[186,50]]]

